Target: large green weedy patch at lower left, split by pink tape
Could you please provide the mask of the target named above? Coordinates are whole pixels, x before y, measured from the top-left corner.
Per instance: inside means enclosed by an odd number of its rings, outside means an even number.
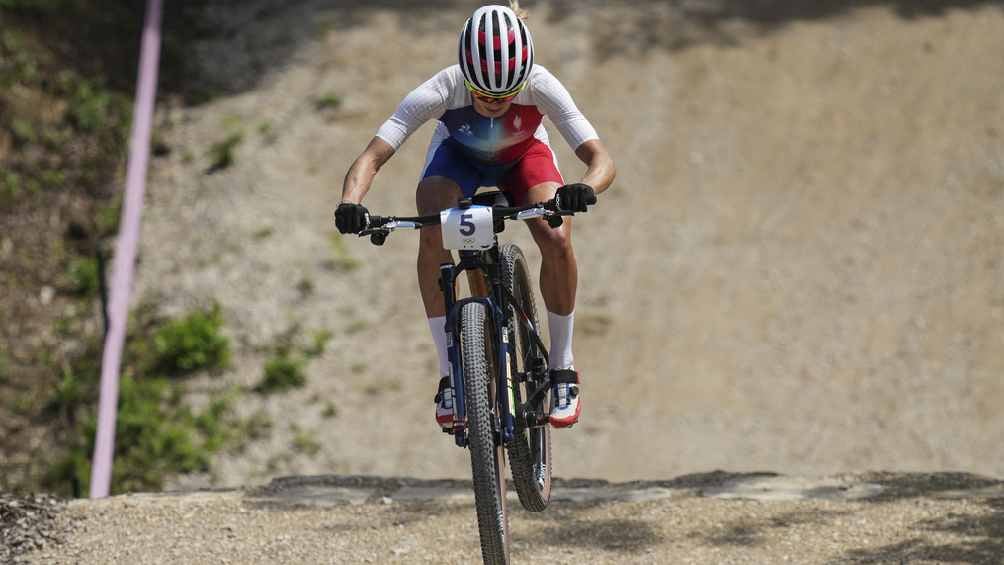
[[[213,454],[245,440],[249,426],[233,411],[236,391],[210,393],[195,409],[185,400],[186,371],[221,367],[227,358],[219,335],[219,308],[177,320],[152,321],[146,309],[134,313],[118,391],[112,492],[160,490],[167,479],[209,470]],[[221,345],[224,344],[224,345]],[[98,338],[89,341],[61,369],[58,384],[35,413],[57,423],[61,446],[42,477],[42,486],[82,496],[90,481],[100,380]]]

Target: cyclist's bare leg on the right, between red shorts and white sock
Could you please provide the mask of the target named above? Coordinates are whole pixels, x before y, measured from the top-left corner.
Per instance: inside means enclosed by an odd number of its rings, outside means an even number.
[[[541,183],[527,192],[527,203],[554,198],[557,183]],[[527,221],[533,241],[540,248],[540,293],[547,310],[567,316],[575,309],[578,266],[571,246],[571,218],[565,216],[559,228],[551,228],[543,218]]]

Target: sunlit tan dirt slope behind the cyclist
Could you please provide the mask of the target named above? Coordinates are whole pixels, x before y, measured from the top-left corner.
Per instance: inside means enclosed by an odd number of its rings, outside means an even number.
[[[246,4],[257,19],[234,23],[205,57],[218,79],[255,73],[257,87],[162,108],[177,151],[152,175],[139,294],[178,311],[220,301],[243,346],[228,376],[238,383],[258,380],[256,348],[294,323],[334,339],[305,389],[242,406],[270,414],[269,440],[183,484],[464,478],[466,454],[430,413],[416,238],[337,251],[330,218],[379,123],[452,62],[469,7]],[[942,4],[914,17],[882,2],[820,8],[770,25],[737,14],[710,27],[658,2],[529,6],[538,61],[619,169],[576,222],[584,412],[557,435],[558,475],[1004,476],[1004,12]],[[689,40],[639,47],[660,31]],[[340,106],[319,109],[332,92]],[[236,164],[207,175],[208,147],[234,129]],[[413,210],[430,132],[381,173],[370,210]],[[575,178],[581,167],[554,137]],[[298,433],[319,453],[297,453]]]

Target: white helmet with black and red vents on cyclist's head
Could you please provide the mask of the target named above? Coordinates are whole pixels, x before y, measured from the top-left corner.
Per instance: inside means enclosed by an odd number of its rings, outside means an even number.
[[[533,67],[530,30],[505,6],[475,10],[460,32],[459,51],[467,86],[491,96],[518,92]]]

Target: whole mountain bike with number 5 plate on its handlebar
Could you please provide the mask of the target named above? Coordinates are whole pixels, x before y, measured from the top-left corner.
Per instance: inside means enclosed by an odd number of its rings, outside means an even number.
[[[523,252],[500,245],[507,220],[545,218],[556,228],[562,216],[554,199],[509,207],[493,191],[464,199],[439,215],[412,218],[369,216],[360,236],[383,245],[401,229],[439,225],[443,247],[460,261],[440,266],[446,299],[453,427],[445,430],[471,453],[474,502],[485,563],[509,563],[509,513],[504,477],[506,455],[523,508],[542,512],[551,495],[551,430],[547,415],[551,379],[547,349]],[[458,280],[468,276],[471,296],[458,298]]]

